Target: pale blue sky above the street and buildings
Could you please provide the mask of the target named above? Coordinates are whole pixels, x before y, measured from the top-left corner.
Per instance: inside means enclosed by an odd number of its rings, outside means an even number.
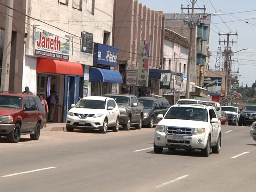
[[[163,11],[164,13],[181,13],[181,4],[183,7],[192,5],[192,0],[138,0],[138,2],[146,5],[155,11]],[[239,69],[238,75],[239,84],[243,86],[248,84],[251,87],[256,79],[256,1],[255,0],[196,0],[195,8],[203,8],[205,5],[206,13],[221,13],[220,15],[212,15],[210,25],[210,69],[215,68],[216,56],[219,46],[226,46],[220,41],[227,41],[227,35],[221,34],[232,33],[229,41],[237,41],[231,46],[234,54],[232,60],[237,60],[232,63],[232,72]],[[191,7],[191,6],[190,6]],[[187,12],[187,10],[184,10]],[[195,13],[200,13],[202,10],[195,10]],[[240,51],[242,49],[251,49],[251,51]],[[223,51],[224,48],[221,48]],[[220,64],[223,66],[224,58],[221,56]]]

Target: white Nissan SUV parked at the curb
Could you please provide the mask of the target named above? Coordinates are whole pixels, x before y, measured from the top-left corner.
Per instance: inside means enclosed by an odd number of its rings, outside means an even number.
[[[68,111],[66,129],[99,129],[106,133],[108,128],[119,130],[120,112],[116,101],[109,97],[84,97]]]

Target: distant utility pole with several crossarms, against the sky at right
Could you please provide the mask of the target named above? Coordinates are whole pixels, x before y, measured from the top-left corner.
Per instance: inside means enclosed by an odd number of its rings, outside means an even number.
[[[227,41],[225,41],[225,39],[224,39],[224,41],[219,40],[219,43],[221,43],[221,42],[223,42],[224,44],[227,43],[226,49],[222,52],[222,55],[225,56],[225,96],[227,96],[228,95],[228,78],[229,78],[229,58],[230,58],[230,56],[232,56],[232,51],[231,51],[231,49],[229,49],[229,43],[232,43],[232,45],[233,45],[233,43],[237,43],[236,41],[233,41],[233,40],[229,41],[229,36],[230,35],[237,36],[237,32],[234,34],[233,33],[220,34],[220,32],[219,32],[219,36],[220,35],[227,35]]]

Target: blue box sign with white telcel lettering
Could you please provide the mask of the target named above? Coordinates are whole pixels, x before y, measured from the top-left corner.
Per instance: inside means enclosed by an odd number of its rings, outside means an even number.
[[[117,65],[117,47],[95,43],[93,50],[93,64]]]

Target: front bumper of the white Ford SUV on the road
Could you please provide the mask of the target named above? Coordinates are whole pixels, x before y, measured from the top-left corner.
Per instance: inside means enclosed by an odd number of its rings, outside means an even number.
[[[182,135],[183,141],[174,141],[171,134],[165,134],[164,132],[155,132],[155,144],[159,147],[178,148],[178,149],[204,149],[207,144],[207,138],[205,134],[200,135]],[[202,142],[198,142],[202,140]]]

